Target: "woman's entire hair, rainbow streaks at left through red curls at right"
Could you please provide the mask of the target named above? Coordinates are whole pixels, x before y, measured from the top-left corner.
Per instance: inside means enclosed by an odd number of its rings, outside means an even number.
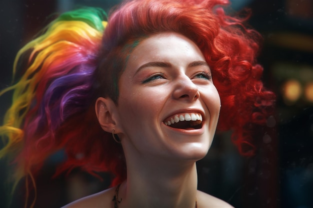
[[[6,144],[0,158],[12,155],[16,183],[58,150],[67,158],[56,174],[79,167],[93,175],[112,173],[112,185],[126,178],[122,148],[100,128],[94,103],[102,96],[118,104],[127,55],[142,38],[160,32],[180,33],[200,48],[221,99],[218,129],[232,129],[239,152],[252,155],[253,129],[265,124],[274,94],[260,81],[263,69],[255,58],[260,35],[218,4],[228,1],[126,1],[112,11],[107,25],[101,9],[82,8],[60,15],[26,44],[13,68],[15,73],[26,65],[23,76],[0,92],[13,90],[0,127]]]

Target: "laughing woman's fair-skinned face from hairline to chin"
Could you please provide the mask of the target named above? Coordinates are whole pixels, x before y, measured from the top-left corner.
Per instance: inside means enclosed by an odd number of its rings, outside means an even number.
[[[219,109],[210,68],[191,40],[173,32],[142,40],[119,80],[116,123],[126,158],[203,158]]]

